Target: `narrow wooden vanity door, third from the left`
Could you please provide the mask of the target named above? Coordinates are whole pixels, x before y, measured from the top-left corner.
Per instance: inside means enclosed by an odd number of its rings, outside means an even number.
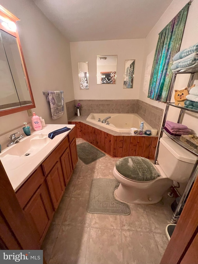
[[[61,165],[62,165],[63,176],[65,179],[65,184],[67,185],[73,172],[69,148],[67,148],[66,151],[61,156]]]

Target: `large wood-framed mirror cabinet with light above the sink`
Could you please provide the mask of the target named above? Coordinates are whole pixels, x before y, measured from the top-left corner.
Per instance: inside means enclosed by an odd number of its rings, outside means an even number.
[[[15,15],[0,6],[0,116],[35,107]]]

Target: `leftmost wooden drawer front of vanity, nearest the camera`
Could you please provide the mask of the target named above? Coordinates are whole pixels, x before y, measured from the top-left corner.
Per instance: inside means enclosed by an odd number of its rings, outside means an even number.
[[[43,183],[45,177],[43,175],[41,166],[25,181],[25,183],[17,190],[16,197],[22,208],[27,204],[32,195],[36,192],[39,186]]]

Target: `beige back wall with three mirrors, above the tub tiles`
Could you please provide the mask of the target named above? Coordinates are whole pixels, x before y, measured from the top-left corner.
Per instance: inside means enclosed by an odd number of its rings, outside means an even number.
[[[145,39],[70,42],[75,99],[138,99]],[[97,55],[118,55],[116,84],[97,84]],[[123,89],[125,60],[135,59],[134,88]],[[89,90],[80,90],[78,62],[88,61]]]

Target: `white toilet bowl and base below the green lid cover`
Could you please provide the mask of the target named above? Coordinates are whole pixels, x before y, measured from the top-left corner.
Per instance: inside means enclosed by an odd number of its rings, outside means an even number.
[[[120,182],[116,191],[117,197],[133,204],[156,204],[161,201],[162,195],[173,184],[173,181],[164,175],[150,182],[135,182],[124,178],[115,167],[113,174]]]

